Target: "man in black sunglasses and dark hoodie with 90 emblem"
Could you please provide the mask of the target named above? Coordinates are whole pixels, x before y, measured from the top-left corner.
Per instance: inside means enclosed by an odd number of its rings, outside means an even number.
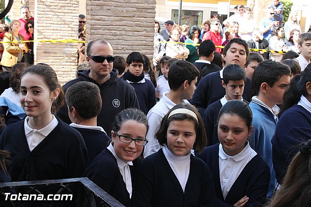
[[[66,91],[69,86],[81,81],[92,82],[100,88],[102,97],[102,109],[97,116],[97,125],[106,132],[112,130],[116,115],[125,108],[138,108],[138,99],[134,87],[125,80],[118,78],[118,70],[113,69],[115,56],[109,42],[104,39],[95,39],[88,43],[86,48],[86,61],[89,70],[78,72],[78,77],[63,86]],[[64,104],[58,110],[57,116],[71,123],[68,116],[68,108]]]

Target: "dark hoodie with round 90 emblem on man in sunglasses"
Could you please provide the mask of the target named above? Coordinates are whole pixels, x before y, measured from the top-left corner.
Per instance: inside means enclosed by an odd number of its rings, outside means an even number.
[[[110,79],[104,84],[98,84],[96,81],[88,77],[90,70],[78,72],[78,78],[69,81],[63,86],[66,91],[70,86],[77,82],[88,81],[96,84],[101,92],[102,109],[97,116],[97,124],[104,128],[106,132],[112,130],[112,125],[117,114],[125,108],[138,108],[139,104],[135,94],[135,89],[125,80],[118,78],[118,71],[112,69]],[[64,122],[70,124],[68,116],[68,107],[64,104],[57,112],[57,116]]]

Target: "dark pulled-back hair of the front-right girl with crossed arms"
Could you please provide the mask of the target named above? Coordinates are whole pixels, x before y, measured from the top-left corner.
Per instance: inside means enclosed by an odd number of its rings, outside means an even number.
[[[253,121],[253,113],[248,104],[241,100],[230,100],[219,111],[218,115],[218,122],[219,119],[224,115],[237,115],[244,120],[248,130],[252,128],[252,121]]]

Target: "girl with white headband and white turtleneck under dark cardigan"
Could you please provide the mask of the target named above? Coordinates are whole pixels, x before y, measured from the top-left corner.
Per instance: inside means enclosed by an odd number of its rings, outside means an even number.
[[[177,104],[155,136],[163,148],[143,160],[136,179],[135,207],[217,206],[206,163],[193,156],[207,145],[202,118],[191,104]]]

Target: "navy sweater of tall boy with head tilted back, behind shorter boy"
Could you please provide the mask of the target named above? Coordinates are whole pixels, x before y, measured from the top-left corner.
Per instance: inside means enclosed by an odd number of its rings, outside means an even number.
[[[222,86],[220,71],[212,72],[200,80],[199,85],[194,91],[190,104],[195,105],[203,117],[207,106],[224,96],[225,88]],[[242,96],[246,101],[251,101],[251,79],[249,78],[246,78]]]

